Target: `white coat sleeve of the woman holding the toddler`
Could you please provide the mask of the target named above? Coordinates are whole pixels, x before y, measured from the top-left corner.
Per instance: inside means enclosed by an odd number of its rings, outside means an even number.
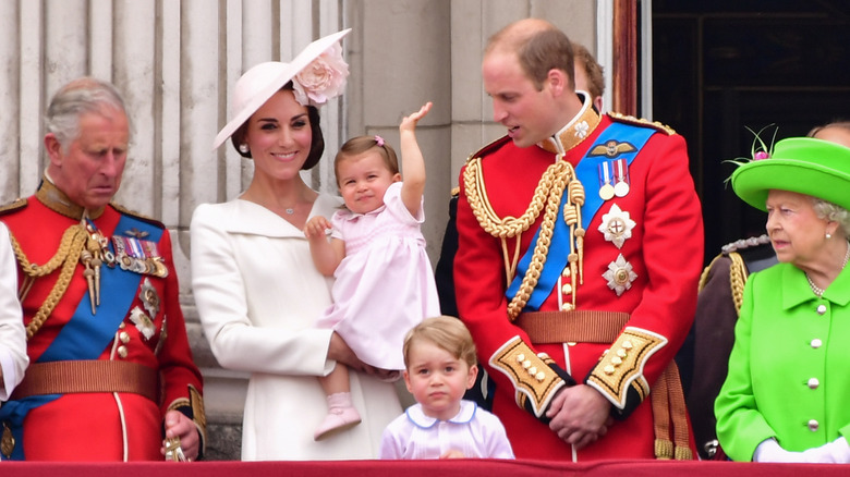
[[[236,250],[218,222],[214,208],[199,206],[191,224],[192,288],[204,332],[218,363],[223,368],[246,372],[329,374],[336,366],[336,362],[327,359],[332,330],[254,325]],[[264,293],[276,293],[275,285],[279,284],[269,283]],[[304,322],[316,318],[304,317]]]

